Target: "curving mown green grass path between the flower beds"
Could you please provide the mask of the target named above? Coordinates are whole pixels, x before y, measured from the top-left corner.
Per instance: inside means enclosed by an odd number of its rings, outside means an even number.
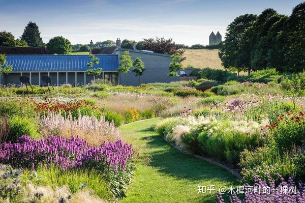
[[[216,191],[198,194],[198,185],[216,189],[237,185],[227,170],[169,146],[154,132],[159,121],[154,118],[120,127],[125,141],[140,154],[127,197],[120,202],[216,202]]]

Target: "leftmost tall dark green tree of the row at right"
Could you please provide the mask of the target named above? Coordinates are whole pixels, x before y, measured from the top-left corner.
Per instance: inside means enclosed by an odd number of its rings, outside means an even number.
[[[239,71],[248,70],[248,73],[250,74],[251,67],[247,63],[238,62],[238,59],[242,59],[239,55],[241,48],[240,42],[248,28],[253,25],[256,19],[256,15],[245,14],[235,18],[234,21],[227,26],[226,39],[218,53],[222,65],[225,68],[231,69],[236,67]]]

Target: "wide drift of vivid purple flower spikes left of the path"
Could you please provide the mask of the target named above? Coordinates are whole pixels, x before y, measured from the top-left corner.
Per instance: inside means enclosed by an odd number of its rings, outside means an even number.
[[[63,170],[98,163],[114,170],[123,170],[134,153],[132,145],[121,140],[91,147],[78,137],[48,136],[38,140],[22,136],[16,143],[0,144],[0,163],[28,168],[53,164]]]

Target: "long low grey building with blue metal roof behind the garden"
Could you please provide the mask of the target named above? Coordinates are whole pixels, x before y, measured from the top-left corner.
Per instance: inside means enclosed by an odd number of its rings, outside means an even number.
[[[92,43],[91,43],[92,44]],[[119,57],[124,51],[129,51],[132,59],[141,57],[145,71],[141,76],[141,83],[171,82],[179,80],[179,77],[168,77],[171,56],[168,54],[154,53],[153,51],[123,49],[121,41],[116,40],[116,46],[104,48],[90,47],[90,53],[100,59],[98,65],[93,68],[102,68],[101,78],[113,84],[125,84],[124,74],[119,74]],[[0,73],[0,84],[19,85],[19,77],[26,75],[32,84],[45,85],[41,77],[48,75],[54,85],[70,83],[83,85],[93,80],[93,76],[86,75],[86,64],[90,62],[88,55],[48,55],[41,47],[0,47],[0,54],[7,55],[8,65],[13,66],[12,73],[8,75]],[[132,68],[131,68],[132,70]],[[139,85],[139,79],[132,71],[126,74],[126,85]]]

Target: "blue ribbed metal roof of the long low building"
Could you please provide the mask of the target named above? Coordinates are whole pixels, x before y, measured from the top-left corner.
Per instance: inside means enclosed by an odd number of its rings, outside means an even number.
[[[118,55],[95,55],[100,63],[92,68],[102,68],[104,71],[116,71]],[[88,55],[7,55],[8,65],[13,66],[13,72],[31,71],[86,71],[90,62]],[[90,68],[91,69],[91,68]]]

